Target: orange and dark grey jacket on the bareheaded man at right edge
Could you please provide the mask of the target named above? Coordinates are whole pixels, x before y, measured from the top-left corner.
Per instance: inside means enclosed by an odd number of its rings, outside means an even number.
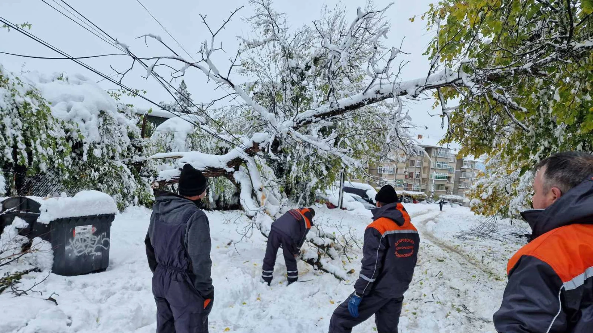
[[[522,216],[533,229],[533,241],[509,260],[496,330],[593,332],[593,179],[547,209]]]

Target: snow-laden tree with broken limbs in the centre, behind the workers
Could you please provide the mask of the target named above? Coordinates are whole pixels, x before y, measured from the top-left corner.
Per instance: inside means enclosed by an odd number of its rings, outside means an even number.
[[[398,79],[400,50],[385,45],[387,8],[359,8],[353,17],[340,8],[327,10],[313,24],[291,30],[269,1],[251,5],[252,37],[240,40],[228,68],[218,68],[214,60],[224,54],[216,42],[222,27],[211,28],[205,18],[212,37],[197,61],[130,52],[151,75],[171,67],[178,69],[167,73],[173,77],[199,71],[228,92],[221,103],[193,105],[197,130],[192,135],[200,136],[201,148],[152,156],[176,159],[161,172],[161,185],[175,182],[178,168],[191,163],[210,177],[240,185],[248,211],[273,210],[286,196],[310,201],[345,167],[362,174],[365,162],[409,145],[409,117],[400,96],[417,96],[416,87],[427,79]]]

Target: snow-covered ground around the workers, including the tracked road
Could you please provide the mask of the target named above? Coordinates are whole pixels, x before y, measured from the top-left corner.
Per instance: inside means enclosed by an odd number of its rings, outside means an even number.
[[[415,278],[405,294],[400,332],[494,332],[492,313],[505,286],[506,260],[521,241],[457,238],[460,230],[481,219],[463,207],[445,206],[443,212],[435,204],[406,204],[406,208],[422,242]],[[314,222],[326,233],[341,225],[343,232],[352,228],[359,239],[371,216],[368,210],[321,206],[316,210]],[[51,274],[36,287],[43,294],[1,294],[0,332],[154,332],[155,304],[144,251],[149,215],[140,207],[117,215],[107,271],[76,277]],[[286,286],[279,253],[268,287],[259,282],[266,239],[255,230],[241,240],[237,231],[249,223],[242,212],[208,212],[208,217],[215,285],[211,332],[327,332],[331,313],[352,292],[358,277],[361,251],[356,246],[349,256],[352,262],[343,258],[345,267],[356,270],[350,280],[340,282],[299,262],[299,283]],[[500,224],[499,236],[515,229],[505,221]],[[23,278],[23,286],[30,286],[33,277],[39,281],[44,275],[30,274]],[[45,300],[50,295],[57,306]],[[372,319],[353,330],[373,331]]]

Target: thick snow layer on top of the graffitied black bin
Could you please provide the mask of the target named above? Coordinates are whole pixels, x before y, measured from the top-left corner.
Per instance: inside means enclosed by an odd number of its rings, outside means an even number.
[[[63,217],[117,214],[117,204],[99,191],[80,191],[74,197],[55,197],[40,200],[41,215],[37,222],[49,223]]]

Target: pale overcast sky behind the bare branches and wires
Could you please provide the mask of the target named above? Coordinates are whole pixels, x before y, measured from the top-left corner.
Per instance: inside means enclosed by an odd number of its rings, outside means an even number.
[[[46,1],[63,11],[53,0]],[[56,1],[63,5],[59,0]],[[202,0],[140,1],[167,28],[171,35],[179,41],[181,46],[192,55],[199,50],[200,43],[209,36],[205,26],[201,23],[199,14],[207,14],[208,21],[213,26],[216,26],[228,17],[232,9],[246,5],[246,8],[241,9],[235,20],[227,26],[227,30],[221,35],[220,40],[223,42],[225,50],[229,54],[232,54],[238,45],[236,36],[250,36],[250,27],[241,20],[243,17],[248,17],[252,12],[252,8],[248,5],[247,0],[208,2]],[[149,41],[149,48],[146,48],[144,40],[135,39],[135,37],[146,33],[157,34],[167,44],[176,46],[175,49],[178,49],[174,41],[150,17],[137,0],[66,0],[66,2],[111,36],[128,44],[132,52],[135,52],[138,56],[170,55],[171,53],[159,47],[154,41]],[[386,0],[377,0],[375,1],[375,5],[382,8],[388,2]],[[393,46],[398,47],[401,39],[405,37],[401,49],[404,52],[410,53],[410,56],[405,57],[405,59],[410,60],[410,63],[401,75],[401,79],[404,81],[406,79],[425,76],[428,71],[429,62],[422,53],[425,52],[433,33],[426,31],[425,22],[421,21],[420,18],[417,18],[414,23],[411,23],[408,19],[414,15],[421,15],[428,9],[428,4],[431,2],[434,1],[398,1],[388,10],[387,17],[391,21],[391,31],[388,34],[388,41]],[[364,8],[365,6],[365,1],[344,0],[341,3],[345,5],[352,18],[356,15],[357,7]],[[318,0],[277,0],[274,3],[274,7],[279,12],[285,12],[289,24],[297,27],[299,25],[310,24],[312,21],[317,20],[320,17],[320,11],[324,5],[333,8],[336,4],[338,2],[332,0],[324,2]],[[62,16],[41,0],[1,0],[0,16],[12,23],[28,21],[28,23],[33,24],[30,30],[31,33],[71,56],[90,56],[118,52],[113,46],[110,46],[79,27],[79,25],[68,20],[68,18]],[[8,32],[6,30],[0,30],[0,51],[35,56],[59,56],[52,50],[28,39],[17,31]],[[220,61],[226,60],[227,57],[225,56]],[[404,59],[404,57],[402,56],[398,59]],[[113,73],[110,65],[116,69],[125,69],[131,62],[129,57],[126,56],[103,57],[82,61],[108,75]],[[0,54],[0,64],[12,72],[20,72],[21,70],[39,71],[42,73],[66,72],[69,75],[72,75],[72,73],[82,73],[90,78],[96,78],[96,81],[100,80],[98,75],[82,68],[71,60],[25,59]],[[151,100],[172,101],[167,92],[154,79],[142,79],[141,75],[145,74],[146,71],[138,67],[137,71],[130,72],[130,75],[126,76],[124,83],[131,88],[145,89],[148,92],[146,97]],[[192,93],[192,98],[196,103],[208,101],[209,95],[212,94],[213,85],[206,84],[203,74],[196,71],[192,71],[191,73],[188,71],[185,79],[189,91]],[[105,89],[114,88],[107,81],[100,82],[100,85]],[[174,82],[173,85],[177,86],[178,82]],[[138,106],[150,106],[139,98],[135,98],[130,103]],[[437,113],[435,110],[432,110],[431,105],[432,101],[415,101],[407,103],[407,108],[410,110],[412,121],[422,126],[422,129],[416,132],[430,135],[431,137],[441,137],[444,134],[444,130],[440,128],[441,120],[439,117],[430,116],[430,114]],[[428,130],[425,130],[424,126],[428,126]]]

